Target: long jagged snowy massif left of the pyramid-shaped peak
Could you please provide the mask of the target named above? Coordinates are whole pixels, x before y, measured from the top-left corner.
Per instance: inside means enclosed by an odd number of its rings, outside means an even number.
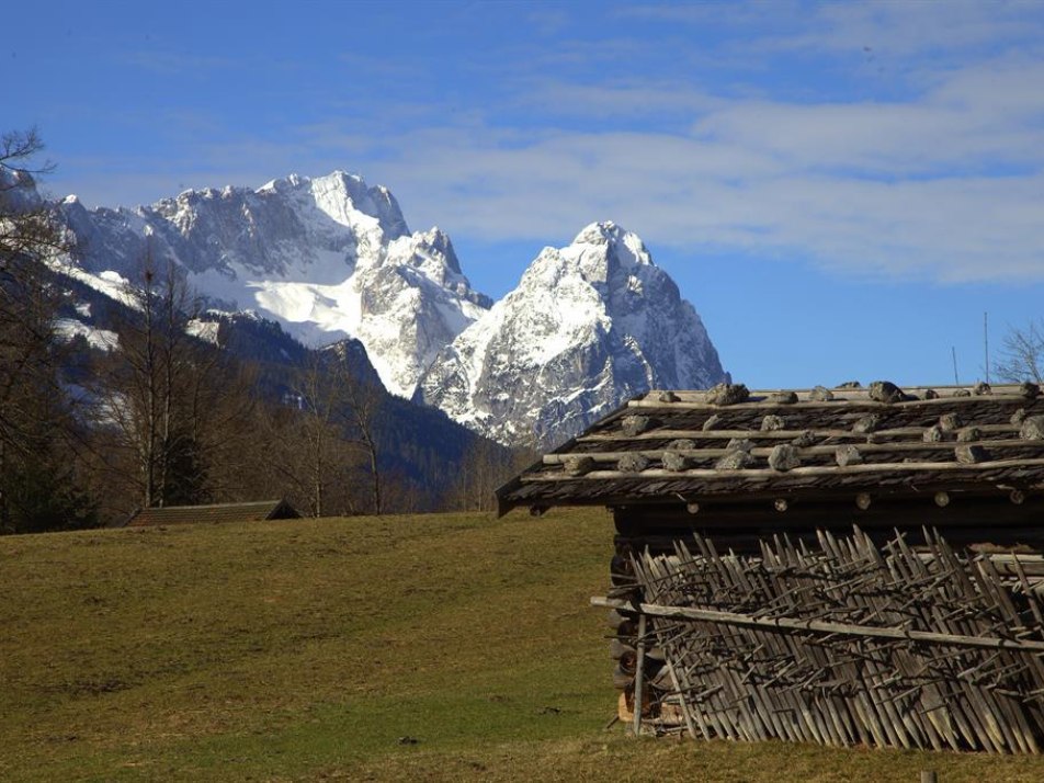
[[[249,190],[185,191],[135,209],[58,208],[80,280],[99,287],[171,259],[209,304],[258,310],[310,344],[360,340],[393,394],[410,397],[435,354],[491,304],[449,236],[411,234],[383,186],[336,171]]]

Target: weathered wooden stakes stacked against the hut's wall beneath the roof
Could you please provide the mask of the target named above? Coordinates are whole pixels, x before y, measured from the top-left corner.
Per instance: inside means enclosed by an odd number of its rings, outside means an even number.
[[[646,615],[646,644],[661,651],[661,688],[640,693],[646,726],[1040,752],[1041,558],[1025,568],[1018,556],[958,556],[934,532],[917,548],[906,536],[881,547],[858,529],[820,532],[817,546],[776,537],[746,557],[695,536],[634,557],[633,581],[601,602],[632,629]]]

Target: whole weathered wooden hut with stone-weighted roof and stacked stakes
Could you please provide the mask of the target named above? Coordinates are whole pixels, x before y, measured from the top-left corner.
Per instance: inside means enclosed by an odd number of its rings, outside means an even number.
[[[1033,384],[650,392],[497,497],[612,509],[592,602],[636,730],[1044,746]]]

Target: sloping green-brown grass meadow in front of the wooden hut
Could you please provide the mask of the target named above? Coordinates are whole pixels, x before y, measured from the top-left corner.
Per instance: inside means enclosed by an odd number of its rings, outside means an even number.
[[[611,547],[589,511],[0,538],[0,780],[1044,780],[604,731]]]

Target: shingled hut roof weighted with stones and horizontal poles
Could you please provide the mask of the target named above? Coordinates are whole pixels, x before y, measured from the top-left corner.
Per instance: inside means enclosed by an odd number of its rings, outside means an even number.
[[[1035,384],[654,390],[497,490],[498,510],[937,491],[1044,490]],[[942,504],[945,495],[937,496]]]

